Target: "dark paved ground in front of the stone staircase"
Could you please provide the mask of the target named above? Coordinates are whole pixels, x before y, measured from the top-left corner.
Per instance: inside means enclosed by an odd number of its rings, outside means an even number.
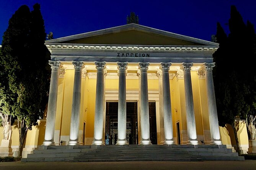
[[[256,170],[256,160],[203,162],[0,162],[0,170]]]

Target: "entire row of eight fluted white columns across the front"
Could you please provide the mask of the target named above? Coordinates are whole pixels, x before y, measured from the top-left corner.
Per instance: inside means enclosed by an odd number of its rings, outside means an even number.
[[[49,61],[52,68],[51,83],[49,91],[49,101],[47,109],[46,131],[43,145],[54,145],[54,124],[57,105],[57,90],[58,90],[58,74],[60,61]],[[78,127],[80,115],[80,98],[81,98],[81,79],[83,61],[73,61],[75,67],[72,114],[70,124],[70,140],[68,145],[77,145],[78,142]],[[140,74],[140,144],[151,144],[150,141],[150,125],[148,111],[148,80],[147,70],[150,63],[139,63]],[[95,62],[97,69],[96,78],[96,100],[95,100],[95,122],[94,122],[94,140],[92,144],[101,145],[103,141],[103,125],[104,125],[104,69],[105,62]],[[119,96],[118,96],[118,140],[117,144],[127,144],[126,140],[126,69],[128,63],[117,62],[119,75]],[[169,69],[171,63],[160,63],[161,71],[158,73],[160,77],[159,88],[161,91],[160,98],[160,118],[163,124],[163,139],[164,144],[174,144],[173,140],[173,123],[171,113],[171,95],[170,95],[170,77]],[[188,144],[198,144],[196,134],[196,121],[194,114],[194,103],[191,84],[191,67],[193,63],[182,63],[181,69],[184,72],[184,87],[185,87],[185,103],[186,103],[186,120],[188,131]],[[208,108],[211,144],[222,144],[220,141],[220,131],[218,128],[217,107],[215,101],[214,84],[212,77],[212,68],[214,63],[204,63],[205,80],[207,87]]]

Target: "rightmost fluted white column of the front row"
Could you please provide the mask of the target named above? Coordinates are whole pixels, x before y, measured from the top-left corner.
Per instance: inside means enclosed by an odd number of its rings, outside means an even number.
[[[214,82],[212,77],[212,68],[215,63],[204,63],[205,68],[205,81],[207,88],[208,97],[208,110],[209,110],[209,122],[210,122],[210,134],[211,134],[211,144],[222,144],[220,140],[220,129],[218,127],[218,115],[217,106],[214,92]]]

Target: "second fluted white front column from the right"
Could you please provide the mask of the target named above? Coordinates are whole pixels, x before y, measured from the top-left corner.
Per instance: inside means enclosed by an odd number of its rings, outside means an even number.
[[[182,63],[181,69],[184,71],[184,85],[185,85],[185,101],[186,101],[186,118],[188,130],[187,144],[198,144],[196,135],[196,120],[194,111],[194,101],[191,84],[191,67],[193,63]]]

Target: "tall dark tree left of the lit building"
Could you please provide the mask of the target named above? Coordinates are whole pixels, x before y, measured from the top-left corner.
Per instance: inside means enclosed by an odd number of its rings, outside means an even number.
[[[1,65],[4,70],[0,74],[6,78],[13,93],[10,104],[4,104],[2,108],[11,106],[10,113],[18,119],[19,155],[22,154],[28,130],[43,115],[49,88],[44,20],[40,5],[35,4],[33,8],[30,12],[28,6],[23,5],[13,14],[2,43]]]

